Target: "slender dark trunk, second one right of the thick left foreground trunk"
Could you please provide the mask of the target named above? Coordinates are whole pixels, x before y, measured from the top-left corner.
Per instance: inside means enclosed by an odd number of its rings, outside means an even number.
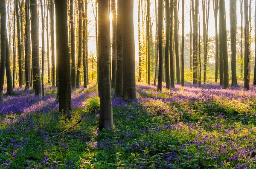
[[[78,60],[76,70],[76,88],[80,87],[81,58],[82,58],[82,0],[79,0],[79,32],[78,32]]]

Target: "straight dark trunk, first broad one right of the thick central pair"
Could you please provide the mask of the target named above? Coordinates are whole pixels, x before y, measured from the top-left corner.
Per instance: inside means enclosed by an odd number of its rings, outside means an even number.
[[[158,0],[158,55],[159,55],[159,68],[158,68],[158,84],[157,90],[162,91],[163,81],[163,0]]]

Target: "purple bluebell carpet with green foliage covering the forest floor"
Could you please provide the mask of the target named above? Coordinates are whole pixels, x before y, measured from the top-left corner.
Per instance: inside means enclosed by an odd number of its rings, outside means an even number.
[[[56,88],[44,98],[16,89],[0,102],[0,169],[255,169],[256,88],[175,87],[140,84],[135,101],[113,97],[112,131],[97,130],[96,85],[73,90],[70,120]]]

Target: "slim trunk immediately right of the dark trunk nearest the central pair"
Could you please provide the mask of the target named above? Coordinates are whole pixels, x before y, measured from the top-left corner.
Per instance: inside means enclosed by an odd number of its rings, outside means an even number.
[[[171,88],[169,72],[169,45],[170,45],[170,1],[166,0],[166,46],[165,46],[165,75],[166,90]]]

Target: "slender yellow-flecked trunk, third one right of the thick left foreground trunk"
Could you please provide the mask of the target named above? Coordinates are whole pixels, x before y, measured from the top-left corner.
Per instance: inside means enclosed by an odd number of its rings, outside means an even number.
[[[85,11],[84,11],[85,4]],[[84,0],[82,5],[82,17],[83,17],[83,66],[84,66],[84,88],[87,88],[87,67],[86,67],[86,56],[88,54],[87,42],[88,42],[88,33],[87,33],[87,0]]]

